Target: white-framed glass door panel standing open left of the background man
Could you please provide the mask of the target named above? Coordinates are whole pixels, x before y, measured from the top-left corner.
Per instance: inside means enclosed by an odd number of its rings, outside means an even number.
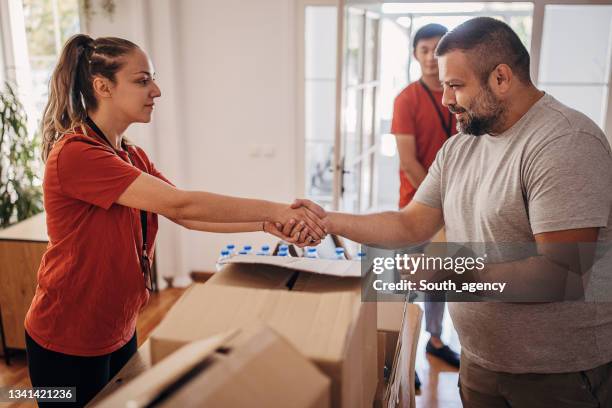
[[[336,103],[337,123],[335,204],[360,213],[375,203],[376,103],[379,90],[379,14],[346,7],[342,50],[342,88]]]

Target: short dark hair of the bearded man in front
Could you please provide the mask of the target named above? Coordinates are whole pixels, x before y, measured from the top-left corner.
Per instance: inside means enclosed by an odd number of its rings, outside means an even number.
[[[482,83],[499,64],[506,64],[524,83],[531,83],[529,53],[506,23],[491,17],[476,17],[446,34],[436,48],[441,57],[451,51],[469,53],[469,59]]]

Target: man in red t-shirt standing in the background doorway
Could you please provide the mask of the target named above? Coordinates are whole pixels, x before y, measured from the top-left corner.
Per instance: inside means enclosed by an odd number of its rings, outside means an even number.
[[[456,130],[456,119],[442,105],[442,85],[438,77],[435,49],[448,30],[440,24],[421,27],[413,39],[414,58],[421,66],[421,78],[408,85],[395,98],[391,133],[395,135],[400,159],[399,208],[406,207],[419,188],[438,150]],[[443,235],[443,230],[439,233]],[[434,241],[440,240],[434,238]],[[423,252],[423,247],[411,252]],[[426,351],[455,368],[459,355],[441,340],[444,298],[425,295],[425,326],[430,334]],[[416,387],[420,387],[418,376]]]

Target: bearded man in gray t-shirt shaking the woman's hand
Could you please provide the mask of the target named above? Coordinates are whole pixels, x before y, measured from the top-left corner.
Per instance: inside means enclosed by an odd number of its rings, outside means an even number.
[[[406,208],[330,212],[328,232],[398,248],[445,226],[448,242],[533,244],[533,256],[478,272],[481,281],[522,281],[526,291],[552,282],[544,275],[589,268],[558,245],[612,240],[612,154],[601,129],[534,86],[527,50],[501,21],[461,24],[436,55],[443,104],[460,133]],[[449,310],[462,345],[464,406],[612,406],[612,303],[456,302]]]

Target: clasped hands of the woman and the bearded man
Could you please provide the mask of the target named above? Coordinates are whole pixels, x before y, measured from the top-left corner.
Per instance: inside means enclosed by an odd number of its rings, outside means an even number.
[[[273,221],[263,223],[265,232],[300,248],[319,245],[329,229],[329,216],[325,210],[304,199],[297,199],[288,208],[279,209]]]

